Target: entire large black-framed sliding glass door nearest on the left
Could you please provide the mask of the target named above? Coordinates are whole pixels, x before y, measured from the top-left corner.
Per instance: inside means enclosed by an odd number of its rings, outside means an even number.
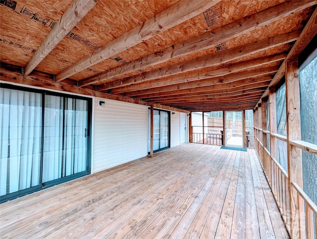
[[[90,173],[92,100],[0,88],[1,202]]]

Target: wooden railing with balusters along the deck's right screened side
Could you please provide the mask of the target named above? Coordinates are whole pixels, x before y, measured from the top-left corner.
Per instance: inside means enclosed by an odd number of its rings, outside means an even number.
[[[256,135],[263,132],[260,128],[255,128]],[[286,137],[278,134],[271,134],[271,138],[278,138],[286,141]],[[297,147],[308,152],[316,153],[315,147],[308,147],[305,142],[291,142]],[[286,228],[290,235],[292,231],[299,231],[299,239],[317,238],[317,206],[295,182],[290,182],[288,173],[271,157],[270,152],[264,147],[259,138],[255,137],[255,149],[264,169],[265,177],[272,190],[279,211],[282,215]],[[292,200],[291,200],[292,197]],[[297,205],[290,205],[291,201]],[[293,212],[292,212],[293,210]]]

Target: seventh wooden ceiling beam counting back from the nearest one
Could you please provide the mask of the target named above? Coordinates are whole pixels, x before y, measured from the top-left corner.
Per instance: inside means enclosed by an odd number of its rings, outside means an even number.
[[[162,96],[173,96],[173,95],[189,95],[189,94],[208,94],[208,93],[226,93],[226,92],[234,92],[234,91],[242,91],[247,89],[253,89],[253,88],[259,88],[259,87],[265,87],[269,85],[269,82],[271,81],[272,77],[270,76],[264,76],[259,77],[257,81],[254,81],[253,83],[250,82],[254,79],[246,79],[242,80],[240,84],[243,84],[246,81],[249,81],[248,85],[235,85],[235,87],[232,87],[232,84],[224,84],[223,87],[217,86],[216,88],[214,86],[207,86],[207,87],[200,87],[196,89],[187,89],[187,90],[178,90],[178,91],[166,91],[166,92],[160,92],[155,94],[145,94],[145,95],[136,95],[133,98],[134,99],[143,99],[146,100],[150,97],[162,97]],[[259,82],[258,82],[259,81]],[[239,83],[239,82],[237,82]]]

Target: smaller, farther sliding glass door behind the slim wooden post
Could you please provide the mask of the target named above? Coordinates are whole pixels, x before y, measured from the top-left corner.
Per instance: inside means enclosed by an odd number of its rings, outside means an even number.
[[[153,110],[153,151],[158,152],[169,148],[170,112]],[[151,151],[151,110],[149,109],[148,122],[148,152]]]

